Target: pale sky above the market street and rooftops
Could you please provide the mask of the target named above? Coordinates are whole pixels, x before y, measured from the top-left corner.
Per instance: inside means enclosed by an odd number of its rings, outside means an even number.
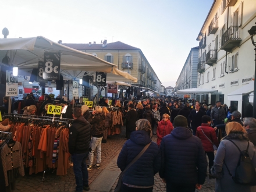
[[[121,41],[143,51],[163,86],[175,86],[213,0],[3,1],[8,38],[42,35],[63,43]],[[0,38],[3,38],[2,33]]]

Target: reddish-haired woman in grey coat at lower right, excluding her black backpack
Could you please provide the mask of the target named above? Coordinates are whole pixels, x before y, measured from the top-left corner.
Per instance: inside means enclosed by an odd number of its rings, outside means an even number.
[[[237,122],[230,122],[226,125],[227,136],[223,137],[219,144],[211,170],[212,176],[216,177],[215,191],[256,191],[256,186],[237,184],[232,179],[232,176],[235,176],[237,164],[240,162],[239,149],[244,151],[248,148],[248,155],[256,168],[254,145],[249,141],[244,126]],[[229,175],[229,171],[232,176]]]

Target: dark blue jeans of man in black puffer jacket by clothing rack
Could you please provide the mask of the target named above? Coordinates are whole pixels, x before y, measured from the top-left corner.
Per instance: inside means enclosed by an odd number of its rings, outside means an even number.
[[[88,152],[72,155],[74,177],[76,178],[76,191],[78,192],[83,192],[83,186],[88,185],[87,157]]]

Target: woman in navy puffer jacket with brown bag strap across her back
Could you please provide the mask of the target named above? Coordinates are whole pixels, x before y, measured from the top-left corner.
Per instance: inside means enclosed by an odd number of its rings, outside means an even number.
[[[143,150],[145,145],[150,143],[150,146],[125,172],[122,179],[122,192],[153,191],[154,175],[161,168],[161,153],[158,145],[151,142],[151,137],[152,130],[150,122],[146,119],[137,120],[136,131],[131,132],[130,139],[126,141],[120,151],[118,167],[122,171],[125,170],[126,166]]]

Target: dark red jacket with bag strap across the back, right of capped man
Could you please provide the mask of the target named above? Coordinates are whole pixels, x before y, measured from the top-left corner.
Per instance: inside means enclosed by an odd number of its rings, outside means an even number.
[[[202,133],[202,130],[204,133]],[[205,137],[205,135],[212,141],[217,147],[219,147],[219,141],[216,136],[215,130],[209,126],[207,123],[202,123],[201,126],[197,127],[197,132],[195,136],[199,137],[202,141],[202,147],[204,147],[204,151],[206,152],[214,152],[214,147],[212,147],[212,143]]]

